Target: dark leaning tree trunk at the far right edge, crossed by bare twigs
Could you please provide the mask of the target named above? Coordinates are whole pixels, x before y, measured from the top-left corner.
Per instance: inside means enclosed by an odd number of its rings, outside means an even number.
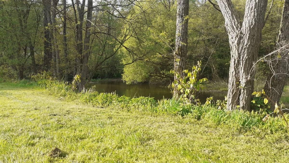
[[[283,13],[280,23],[280,30],[277,39],[277,47],[283,47],[289,44],[289,0],[284,1]],[[289,49],[289,47],[287,48]],[[270,65],[270,75],[264,86],[265,93],[273,100],[279,103],[283,93],[284,86],[288,81],[289,73],[289,50],[283,50],[282,54],[278,54],[281,58],[276,58]],[[275,103],[271,102],[271,110],[274,111]]]

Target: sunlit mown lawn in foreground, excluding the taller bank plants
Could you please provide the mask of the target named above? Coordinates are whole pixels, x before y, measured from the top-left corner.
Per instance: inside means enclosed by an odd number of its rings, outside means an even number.
[[[0,162],[288,162],[288,140],[186,117],[108,110],[0,83]],[[58,147],[66,157],[50,158]]]

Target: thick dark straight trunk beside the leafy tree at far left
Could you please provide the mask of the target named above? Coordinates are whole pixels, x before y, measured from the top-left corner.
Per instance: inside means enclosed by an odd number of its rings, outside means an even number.
[[[51,0],[42,0],[43,3],[43,26],[44,26],[44,57],[43,57],[43,68],[48,71],[51,68],[51,38],[48,24],[51,23]]]

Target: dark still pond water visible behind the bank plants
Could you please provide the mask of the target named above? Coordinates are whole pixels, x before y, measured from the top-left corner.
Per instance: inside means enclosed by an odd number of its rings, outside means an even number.
[[[87,88],[95,86],[95,90],[98,92],[111,93],[116,91],[119,96],[125,95],[127,97],[154,97],[155,100],[159,99],[170,99],[172,98],[171,90],[164,86],[140,83],[140,84],[125,84],[124,82],[100,82],[100,83],[89,83]],[[216,91],[205,91],[198,93],[197,98],[201,102],[205,102],[207,97],[213,96],[214,100],[224,99],[226,93]]]

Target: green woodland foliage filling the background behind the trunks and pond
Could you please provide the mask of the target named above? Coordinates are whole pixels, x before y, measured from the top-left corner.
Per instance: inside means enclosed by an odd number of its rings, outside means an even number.
[[[167,83],[173,80],[169,70],[173,68],[177,1],[149,0],[141,1],[138,5],[122,6],[122,4],[121,10],[115,8],[118,5],[113,6],[107,3],[127,4],[129,1],[95,1],[94,3],[100,6],[95,8],[98,11],[92,14],[94,26],[90,28],[88,79],[122,76],[127,83],[147,81]],[[200,77],[210,80],[226,79],[229,70],[230,47],[223,16],[208,1],[190,1],[189,3],[187,68],[192,67],[201,59],[203,65]],[[234,1],[234,4],[238,13],[242,15],[245,1]],[[33,10],[31,9],[30,12],[5,10],[8,6],[30,7]],[[263,29],[260,55],[271,52],[275,47],[282,6],[281,0],[273,2],[271,14],[268,15]],[[75,40],[75,27],[80,22],[74,21],[73,7],[71,5],[66,7],[67,48],[64,47],[62,12],[56,17],[56,34],[53,35],[56,44],[54,45],[53,42],[51,48],[59,51],[61,76],[59,79],[71,74],[68,77],[71,81],[79,68],[77,61],[81,60]],[[269,7],[270,5],[268,9]],[[31,42],[34,46],[37,71],[45,70],[47,66],[43,62],[45,37],[42,31],[48,29],[52,33],[52,25],[48,27],[40,25],[44,21],[43,4],[36,1],[8,0],[3,1],[0,8],[3,9],[0,11],[0,66],[9,67],[17,72],[15,75],[18,75],[18,78],[28,77],[32,73],[32,49],[29,48]],[[57,10],[63,10],[62,2],[58,3]],[[146,12],[143,12],[144,10]],[[86,17],[86,12],[84,17]],[[85,23],[82,28],[85,28]],[[64,49],[67,49],[67,56],[64,54]],[[133,65],[130,65],[131,63]],[[48,71],[50,70],[53,75],[56,74],[55,66],[55,59],[51,58],[51,68]],[[263,79],[267,69],[266,64],[258,64],[256,77]]]

